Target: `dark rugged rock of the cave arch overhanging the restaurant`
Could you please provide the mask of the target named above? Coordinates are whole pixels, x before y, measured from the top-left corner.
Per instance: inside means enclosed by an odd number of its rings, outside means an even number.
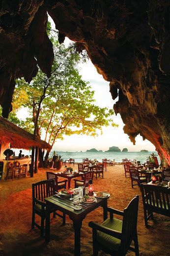
[[[141,134],[170,165],[170,1],[10,0],[0,6],[0,104],[11,110],[15,78],[30,81],[37,64],[50,76],[47,11],[64,37],[86,49],[110,81],[115,113],[133,143]]]

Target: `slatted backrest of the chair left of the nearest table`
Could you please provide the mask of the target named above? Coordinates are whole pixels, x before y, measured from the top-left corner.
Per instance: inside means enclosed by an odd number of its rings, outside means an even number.
[[[46,197],[55,194],[55,181],[45,180],[32,184],[32,204],[35,204],[35,198],[43,201]]]

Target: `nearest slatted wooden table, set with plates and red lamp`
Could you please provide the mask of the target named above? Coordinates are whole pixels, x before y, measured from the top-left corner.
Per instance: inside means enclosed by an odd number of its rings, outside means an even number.
[[[80,192],[79,192],[80,193]],[[74,255],[80,256],[81,255],[81,244],[80,244],[80,237],[81,237],[81,227],[82,221],[85,219],[86,215],[98,207],[103,207],[103,219],[106,220],[108,218],[108,198],[104,199],[97,199],[96,203],[87,205],[82,210],[76,211],[74,210],[74,203],[78,203],[80,195],[74,195],[73,201],[70,201],[68,198],[59,198],[50,196],[45,198],[46,202],[46,225],[45,225],[45,241],[48,243],[50,242],[50,213],[54,209],[57,209],[69,216],[69,218],[73,221],[74,227]]]

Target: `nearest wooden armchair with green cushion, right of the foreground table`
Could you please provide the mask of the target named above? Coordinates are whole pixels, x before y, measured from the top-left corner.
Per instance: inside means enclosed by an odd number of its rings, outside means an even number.
[[[118,211],[108,207],[110,218],[102,224],[90,221],[92,227],[93,256],[98,256],[99,251],[114,256],[125,256],[128,250],[139,256],[137,219],[138,219],[139,196],[132,199],[124,211]],[[123,217],[123,220],[113,218],[113,214]],[[135,248],[131,247],[134,241]]]

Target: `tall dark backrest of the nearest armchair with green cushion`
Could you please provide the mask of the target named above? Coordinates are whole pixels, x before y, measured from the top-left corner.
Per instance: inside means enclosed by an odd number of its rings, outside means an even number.
[[[134,239],[134,234],[137,232],[138,205],[139,195],[136,195],[128,204],[127,208],[124,209],[122,239],[120,244],[122,255],[126,255]]]

